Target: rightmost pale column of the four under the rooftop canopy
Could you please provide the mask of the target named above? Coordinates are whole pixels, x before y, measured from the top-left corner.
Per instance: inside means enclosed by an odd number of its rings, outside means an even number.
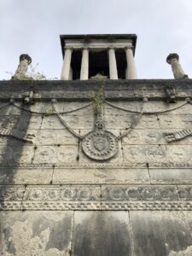
[[[137,69],[131,48],[125,48],[127,68],[125,70],[126,79],[137,79]]]

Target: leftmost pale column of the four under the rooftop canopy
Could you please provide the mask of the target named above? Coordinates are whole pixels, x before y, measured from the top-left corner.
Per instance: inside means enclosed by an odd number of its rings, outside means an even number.
[[[61,80],[69,80],[70,77],[70,67],[72,60],[72,50],[71,48],[67,48],[65,50],[64,61],[61,70]]]

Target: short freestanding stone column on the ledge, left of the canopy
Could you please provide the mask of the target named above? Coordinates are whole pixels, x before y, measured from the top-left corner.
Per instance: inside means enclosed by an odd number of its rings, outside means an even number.
[[[15,71],[15,75],[12,79],[25,79],[26,78],[26,71],[29,64],[32,63],[32,58],[29,55],[20,55],[20,64]]]

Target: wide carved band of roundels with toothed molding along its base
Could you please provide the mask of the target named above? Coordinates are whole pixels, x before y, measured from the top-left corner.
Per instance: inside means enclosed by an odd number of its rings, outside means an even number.
[[[192,210],[192,186],[8,186],[0,210]]]

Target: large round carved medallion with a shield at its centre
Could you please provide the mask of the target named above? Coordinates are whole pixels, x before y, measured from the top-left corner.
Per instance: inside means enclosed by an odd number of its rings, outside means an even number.
[[[110,131],[90,131],[82,141],[84,154],[93,160],[108,160],[118,152],[118,140]]]

